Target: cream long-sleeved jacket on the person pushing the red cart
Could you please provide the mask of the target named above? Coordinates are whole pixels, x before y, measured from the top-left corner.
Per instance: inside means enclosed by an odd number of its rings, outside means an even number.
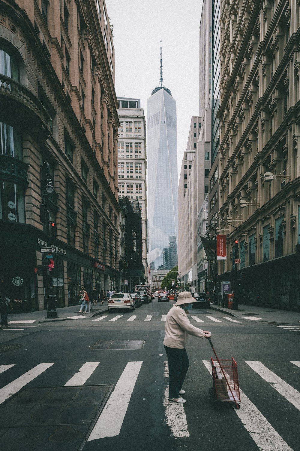
[[[204,338],[206,335],[201,329],[193,326],[184,309],[179,305],[173,305],[166,317],[166,336],[164,345],[169,348],[184,349],[188,340],[188,334]]]

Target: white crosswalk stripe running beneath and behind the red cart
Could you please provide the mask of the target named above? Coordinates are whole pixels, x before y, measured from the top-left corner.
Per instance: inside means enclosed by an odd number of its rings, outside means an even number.
[[[211,374],[210,360],[202,360]],[[240,389],[241,407],[234,409],[260,451],[293,451]]]

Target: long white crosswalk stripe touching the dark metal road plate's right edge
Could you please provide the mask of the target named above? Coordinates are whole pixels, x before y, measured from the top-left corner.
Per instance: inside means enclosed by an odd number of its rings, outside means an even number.
[[[98,438],[116,437],[119,435],[142,363],[128,362],[97,423],[90,433],[88,442]]]

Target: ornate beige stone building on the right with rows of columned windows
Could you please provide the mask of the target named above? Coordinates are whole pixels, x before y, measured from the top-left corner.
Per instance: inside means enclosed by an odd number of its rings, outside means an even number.
[[[239,300],[300,310],[300,3],[221,1],[219,214]],[[233,240],[239,240],[234,255]]]

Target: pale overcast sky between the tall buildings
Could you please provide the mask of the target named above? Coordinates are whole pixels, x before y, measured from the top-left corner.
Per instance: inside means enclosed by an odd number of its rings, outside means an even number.
[[[177,102],[178,179],[193,115],[199,115],[199,25],[202,0],[105,0],[113,25],[116,95],[147,98],[159,85]]]

